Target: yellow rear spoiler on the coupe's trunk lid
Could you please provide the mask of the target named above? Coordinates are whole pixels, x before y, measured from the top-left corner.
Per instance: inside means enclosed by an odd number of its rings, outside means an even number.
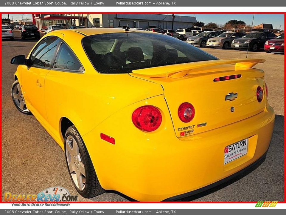
[[[171,77],[181,78],[186,74],[200,74],[208,73],[211,71],[205,71],[206,67],[224,65],[224,64],[235,64],[235,70],[243,68],[252,68],[258,63],[265,62],[264,59],[227,59],[227,60],[210,60],[200,61],[193,63],[183,64],[172,64],[166,66],[152,67],[146,69],[133,70],[132,73],[138,76],[160,78],[160,77]]]

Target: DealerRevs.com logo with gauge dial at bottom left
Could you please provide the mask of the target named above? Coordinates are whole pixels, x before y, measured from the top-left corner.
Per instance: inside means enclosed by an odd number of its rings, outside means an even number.
[[[4,202],[76,202],[77,196],[70,195],[62,187],[50,187],[38,194],[4,193]]]

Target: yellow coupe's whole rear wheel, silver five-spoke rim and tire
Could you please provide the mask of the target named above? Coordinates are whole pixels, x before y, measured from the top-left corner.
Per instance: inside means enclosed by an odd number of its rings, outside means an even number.
[[[74,125],[66,130],[65,156],[71,181],[80,195],[92,198],[104,193],[83,139]]]

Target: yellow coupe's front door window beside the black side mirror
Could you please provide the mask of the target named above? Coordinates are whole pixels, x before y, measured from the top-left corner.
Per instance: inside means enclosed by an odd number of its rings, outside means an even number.
[[[61,41],[57,36],[49,36],[41,40],[30,57],[31,66],[52,67],[57,45]]]

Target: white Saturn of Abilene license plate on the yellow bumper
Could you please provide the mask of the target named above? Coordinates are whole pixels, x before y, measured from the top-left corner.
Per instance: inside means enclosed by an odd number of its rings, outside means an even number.
[[[248,138],[240,140],[224,148],[224,163],[227,164],[243,155],[247,154]]]

